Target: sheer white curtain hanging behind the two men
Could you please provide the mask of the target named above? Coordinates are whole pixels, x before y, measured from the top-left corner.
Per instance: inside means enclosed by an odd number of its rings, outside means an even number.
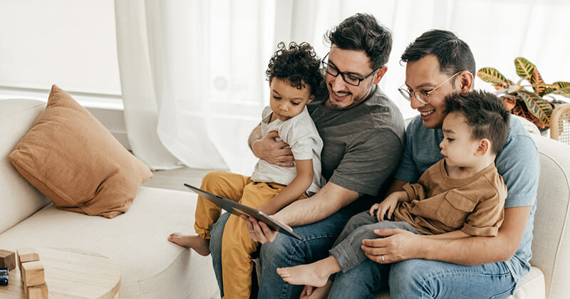
[[[547,82],[570,80],[570,4],[563,0],[115,0],[121,88],[133,152],[152,169],[185,164],[251,174],[247,137],[269,103],[266,65],[276,43],[308,41],[357,12],[393,31],[380,88],[405,117],[400,55],[431,28],[457,33],[477,68],[516,80],[514,58]],[[492,90],[477,79],[476,88]]]

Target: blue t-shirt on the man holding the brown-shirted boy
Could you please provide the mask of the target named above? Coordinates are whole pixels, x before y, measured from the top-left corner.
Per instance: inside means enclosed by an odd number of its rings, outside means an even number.
[[[405,150],[396,179],[415,183],[425,169],[443,158],[440,154],[440,142],[443,140],[441,129],[428,129],[418,115],[408,125],[405,136]],[[537,190],[540,174],[540,159],[537,146],[532,141],[521,122],[511,117],[509,133],[502,152],[494,161],[497,171],[507,185],[505,208],[532,206],[527,220],[527,228],[517,253],[506,262],[515,280],[519,280],[530,270],[532,258],[531,242],[534,211],[537,209]],[[489,248],[493,250],[493,248]]]

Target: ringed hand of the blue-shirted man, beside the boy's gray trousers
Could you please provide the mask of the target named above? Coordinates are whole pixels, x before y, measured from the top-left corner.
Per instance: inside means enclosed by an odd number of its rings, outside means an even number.
[[[413,258],[421,247],[420,235],[403,229],[375,229],[384,238],[365,239],[362,250],[376,263],[395,263]]]

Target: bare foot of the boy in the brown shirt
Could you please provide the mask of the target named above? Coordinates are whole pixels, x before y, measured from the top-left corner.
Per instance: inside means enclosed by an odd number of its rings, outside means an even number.
[[[334,267],[336,263],[336,267]],[[337,270],[338,268],[338,270]],[[335,271],[336,270],[336,271]],[[340,271],[336,258],[329,256],[321,261],[290,268],[277,268],[277,273],[291,285],[313,285],[321,287],[326,285],[328,276]]]

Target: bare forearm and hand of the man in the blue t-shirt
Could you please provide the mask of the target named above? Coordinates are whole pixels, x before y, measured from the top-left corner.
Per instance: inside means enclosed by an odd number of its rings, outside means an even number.
[[[508,261],[519,248],[531,209],[532,206],[504,209],[504,221],[494,237],[435,239],[400,229],[385,229],[376,233],[385,238],[364,240],[362,248],[373,261],[380,262],[384,256],[385,263],[411,258],[462,265]]]

